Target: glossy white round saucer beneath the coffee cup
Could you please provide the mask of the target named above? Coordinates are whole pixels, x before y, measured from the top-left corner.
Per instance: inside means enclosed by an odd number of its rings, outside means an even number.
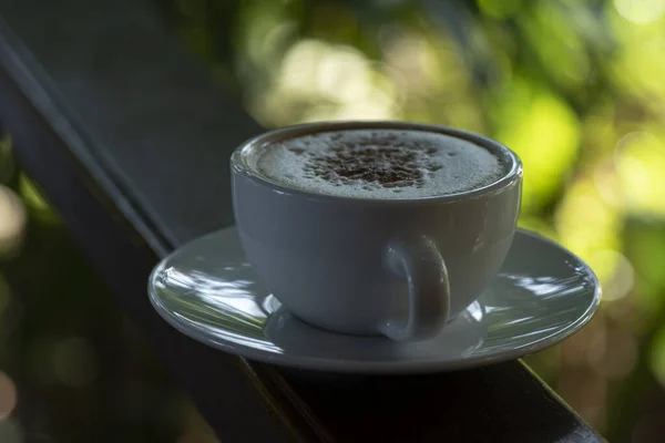
[[[257,281],[232,227],[165,258],[150,277],[149,293],[181,332],[247,359],[334,372],[417,373],[495,363],[556,344],[591,319],[601,288],[573,254],[518,230],[491,287],[438,336],[408,342],[346,336],[282,308]]]

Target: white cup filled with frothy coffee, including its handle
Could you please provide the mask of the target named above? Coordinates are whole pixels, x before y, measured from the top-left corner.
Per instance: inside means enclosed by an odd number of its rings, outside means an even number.
[[[231,158],[237,230],[265,287],[300,320],[424,339],[503,262],[522,166],[481,135],[405,122],[314,123]]]

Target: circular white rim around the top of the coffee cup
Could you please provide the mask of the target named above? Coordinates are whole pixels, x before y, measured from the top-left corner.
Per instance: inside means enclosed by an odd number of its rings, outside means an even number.
[[[291,137],[304,136],[309,134],[316,134],[319,132],[332,132],[332,131],[345,131],[345,130],[397,130],[397,131],[422,131],[433,132],[443,135],[453,136],[461,138],[479,146],[482,146],[493,154],[501,154],[504,159],[510,161],[510,167],[508,172],[501,176],[501,178],[490,183],[489,185],[478,187],[470,190],[462,190],[459,193],[446,194],[446,195],[432,195],[424,197],[411,197],[411,198],[368,198],[368,197],[354,197],[354,196],[341,196],[331,194],[320,194],[310,190],[298,189],[295,187],[283,185],[269,177],[260,174],[254,167],[252,167],[246,157],[248,152],[256,146],[266,145],[269,143],[277,143]],[[320,199],[320,200],[337,200],[337,202],[359,202],[364,204],[386,204],[386,205],[399,205],[405,203],[444,203],[444,202],[457,202],[461,199],[473,199],[485,196],[488,194],[494,194],[495,192],[502,190],[510,186],[516,179],[522,177],[522,162],[520,157],[505,145],[485,137],[480,134],[459,130],[444,125],[428,124],[428,123],[413,123],[413,122],[400,122],[400,121],[336,121],[336,122],[316,122],[305,123],[293,126],[285,126],[278,130],[268,131],[258,136],[249,138],[242,143],[231,156],[231,167],[234,174],[242,174],[245,178],[254,182],[257,185],[270,188],[283,195],[293,195],[305,197],[308,199]]]

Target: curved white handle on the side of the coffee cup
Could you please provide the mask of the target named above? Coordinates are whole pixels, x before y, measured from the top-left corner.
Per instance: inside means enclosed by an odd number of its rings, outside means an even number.
[[[392,272],[406,278],[409,313],[406,321],[393,319],[383,323],[381,333],[398,341],[436,334],[450,313],[450,281],[434,241],[427,236],[392,241],[383,250],[383,262]]]

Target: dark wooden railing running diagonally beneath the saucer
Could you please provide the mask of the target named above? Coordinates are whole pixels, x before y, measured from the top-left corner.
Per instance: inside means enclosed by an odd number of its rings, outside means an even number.
[[[262,128],[147,2],[0,0],[0,122],[19,162],[222,441],[602,441],[520,361],[349,378],[176,332],[147,275],[233,224],[227,159]]]

